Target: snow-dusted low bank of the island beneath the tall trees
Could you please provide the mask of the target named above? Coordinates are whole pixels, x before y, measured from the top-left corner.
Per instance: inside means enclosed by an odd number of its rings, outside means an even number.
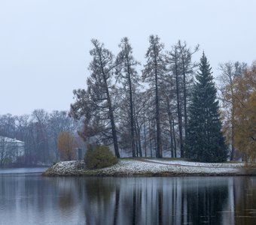
[[[45,176],[210,176],[256,175],[244,163],[197,163],[186,160],[119,159],[114,166],[87,169],[84,161],[62,161],[43,173]]]

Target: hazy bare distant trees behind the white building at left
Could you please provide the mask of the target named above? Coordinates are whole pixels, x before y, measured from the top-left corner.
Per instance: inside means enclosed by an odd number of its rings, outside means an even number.
[[[58,160],[59,133],[76,133],[77,129],[78,122],[65,111],[34,110],[31,115],[0,115],[0,136],[25,142],[25,155],[21,161],[28,165]]]

